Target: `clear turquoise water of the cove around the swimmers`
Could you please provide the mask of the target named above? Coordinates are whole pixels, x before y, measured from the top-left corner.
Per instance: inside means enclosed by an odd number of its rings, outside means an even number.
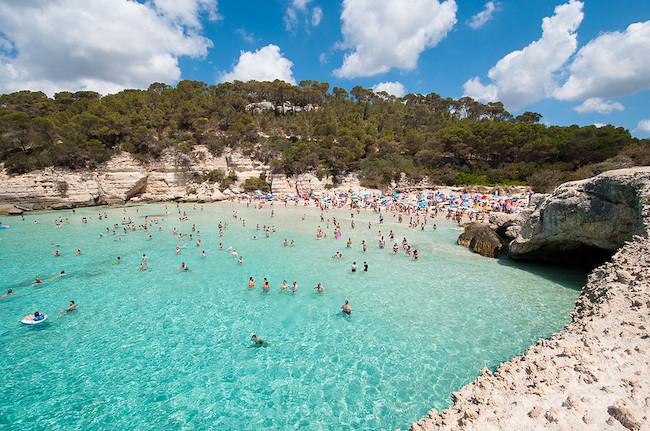
[[[459,231],[444,221],[436,231],[416,232],[386,218],[385,234],[393,229],[396,240],[406,236],[419,250],[412,261],[377,248],[379,225],[369,230],[362,222],[374,222],[371,213],[357,216],[354,231],[343,222],[342,240],[330,229],[317,241],[316,226],[325,224],[313,209],[276,206],[271,219],[268,207],[202,207],[183,205],[190,220],[179,222],[169,206],[171,216],[122,241],[99,233],[125,215],[143,223],[164,206],[3,219],[11,228],[0,230],[0,288],[16,293],[0,299],[1,429],[406,428],[447,406],[451,392],[482,367],[561,329],[583,281],[577,273],[472,254],[454,244]],[[232,219],[234,208],[246,227]],[[97,219],[100,211],[108,221]],[[332,215],[349,218],[347,211]],[[60,216],[70,224],[56,229]],[[90,222],[82,224],[82,216]],[[220,220],[229,224],[223,238]],[[174,226],[188,233],[192,223],[201,248],[171,233]],[[266,239],[256,223],[278,231]],[[297,246],[283,247],[284,238]],[[244,264],[219,250],[220,241]],[[187,245],[180,256],[179,244]],[[342,261],[330,258],[337,250]],[[143,253],[147,271],[138,270]],[[122,263],[112,265],[116,256]],[[360,267],[354,274],[353,260]],[[178,271],[182,261],[189,271]],[[64,278],[31,286],[34,277],[61,270]],[[257,280],[253,290],[249,276]],[[281,291],[284,279],[297,280],[298,292]],[[317,282],[323,294],[313,291]],[[339,313],[346,298],[350,319]],[[60,314],[71,299],[78,310]],[[35,310],[48,321],[19,325]],[[251,347],[253,333],[270,345]]]

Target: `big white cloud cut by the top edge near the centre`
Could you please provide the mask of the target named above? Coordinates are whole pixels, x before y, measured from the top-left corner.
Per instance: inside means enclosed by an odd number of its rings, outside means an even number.
[[[411,70],[456,24],[455,0],[344,0],[344,42],[352,52],[338,77],[373,76],[391,68]]]

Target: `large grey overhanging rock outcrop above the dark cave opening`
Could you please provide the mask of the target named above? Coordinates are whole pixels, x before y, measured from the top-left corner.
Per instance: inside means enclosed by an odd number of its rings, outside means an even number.
[[[536,199],[509,245],[512,258],[566,261],[611,253],[649,231],[650,167],[604,172]]]

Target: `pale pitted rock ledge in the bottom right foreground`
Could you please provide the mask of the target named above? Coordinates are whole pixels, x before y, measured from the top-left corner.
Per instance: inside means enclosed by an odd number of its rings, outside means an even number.
[[[650,239],[634,237],[589,275],[562,332],[482,370],[411,430],[650,429],[649,331]]]

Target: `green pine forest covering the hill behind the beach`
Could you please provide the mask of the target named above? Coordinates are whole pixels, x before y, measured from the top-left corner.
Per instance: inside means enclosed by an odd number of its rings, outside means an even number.
[[[262,101],[291,106],[247,109]],[[318,109],[302,109],[308,105]],[[357,171],[365,184],[381,186],[404,172],[450,185],[530,183],[539,190],[650,164],[650,141],[623,128],[547,127],[540,119],[533,112],[513,116],[498,102],[435,93],[396,98],[359,86],[329,91],[316,81],[154,83],[103,97],[20,91],[0,96],[0,161],[12,173],[77,169],[118,151],[156,158],[166,147],[187,152],[204,144],[214,154],[240,148],[288,175]],[[224,172],[205,175],[220,187],[234,181]]]

